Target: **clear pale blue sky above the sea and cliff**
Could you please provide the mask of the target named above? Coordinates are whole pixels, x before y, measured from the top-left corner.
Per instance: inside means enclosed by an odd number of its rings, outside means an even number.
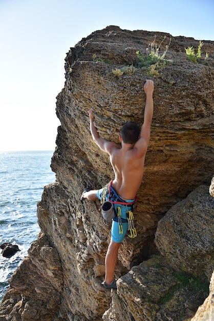
[[[214,41],[213,0],[0,0],[0,151],[54,150],[70,47],[106,26]]]

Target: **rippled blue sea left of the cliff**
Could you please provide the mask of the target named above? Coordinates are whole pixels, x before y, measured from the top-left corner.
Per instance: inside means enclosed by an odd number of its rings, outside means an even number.
[[[10,258],[0,249],[0,301],[8,279],[28,255],[40,231],[37,202],[44,186],[55,182],[51,171],[53,151],[0,152],[0,245],[9,242],[19,251]]]

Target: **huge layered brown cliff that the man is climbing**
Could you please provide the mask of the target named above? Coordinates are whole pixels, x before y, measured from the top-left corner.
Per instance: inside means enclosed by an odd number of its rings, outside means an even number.
[[[146,53],[154,35],[110,26],[68,52],[66,83],[57,96],[61,126],[51,164],[56,183],[45,187],[38,203],[41,234],[10,279],[0,310],[4,320],[101,320],[103,313],[103,319],[115,321],[162,321],[176,315],[182,320],[193,316],[208,295],[206,289],[194,292],[192,284],[201,282],[194,275],[185,274],[187,284],[182,284],[175,274],[180,271],[168,265],[167,257],[145,260],[157,252],[159,220],[192,190],[208,186],[213,176],[214,42],[204,42],[209,59],[194,64],[187,60],[185,48],[197,48],[198,41],[157,32],[158,45],[166,36],[163,48],[172,38],[166,54],[171,62],[159,69],[158,77],[139,68],[133,75],[115,76],[116,68],[137,66],[136,51]],[[119,250],[115,276],[122,277],[118,291],[111,294],[101,286],[111,223],[102,219],[99,202],[79,201],[84,187],[100,188],[114,174],[108,156],[92,141],[88,110],[96,110],[100,135],[119,143],[126,121],[143,122],[147,78],[154,79],[155,109],[135,210],[138,236],[126,237]],[[179,255],[176,259],[180,262]],[[180,263],[182,273],[186,266],[188,262]],[[200,280],[211,268],[206,260]],[[181,298],[184,309],[178,304]]]

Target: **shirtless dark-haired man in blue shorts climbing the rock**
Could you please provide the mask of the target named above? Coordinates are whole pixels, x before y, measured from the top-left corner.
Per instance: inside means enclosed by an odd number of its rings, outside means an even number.
[[[119,233],[118,220],[112,221],[111,242],[108,251],[105,256],[105,280],[103,285],[106,289],[116,289],[116,279],[114,278],[114,270],[117,261],[118,250],[120,244],[125,237],[128,229],[128,223],[126,220],[126,211],[131,207],[135,201],[136,193],[141,185],[144,170],[144,160],[147,151],[151,123],[153,117],[153,90],[154,83],[152,80],[146,80],[144,85],[144,91],[146,93],[146,102],[144,109],[144,121],[141,129],[132,122],[123,125],[119,140],[121,147],[114,143],[108,142],[104,138],[100,138],[97,128],[94,126],[94,109],[89,110],[90,116],[90,129],[93,141],[99,146],[101,150],[108,153],[110,161],[115,173],[115,178],[112,182],[110,195],[116,194],[119,197],[120,202],[125,202],[127,205],[120,205],[121,217],[123,218],[122,230],[123,233]],[[91,201],[101,199],[103,189],[100,190],[84,190],[81,196]],[[113,192],[113,194],[112,194]],[[118,196],[119,195],[119,196]],[[109,195],[106,195],[108,199]],[[110,199],[112,199],[110,197]],[[117,198],[118,199],[118,198]]]

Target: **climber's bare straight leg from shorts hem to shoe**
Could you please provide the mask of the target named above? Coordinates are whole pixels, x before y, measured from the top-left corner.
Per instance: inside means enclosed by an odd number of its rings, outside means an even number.
[[[121,243],[111,239],[108,251],[105,256],[105,283],[110,284],[114,279],[114,270],[117,262],[117,254]]]

